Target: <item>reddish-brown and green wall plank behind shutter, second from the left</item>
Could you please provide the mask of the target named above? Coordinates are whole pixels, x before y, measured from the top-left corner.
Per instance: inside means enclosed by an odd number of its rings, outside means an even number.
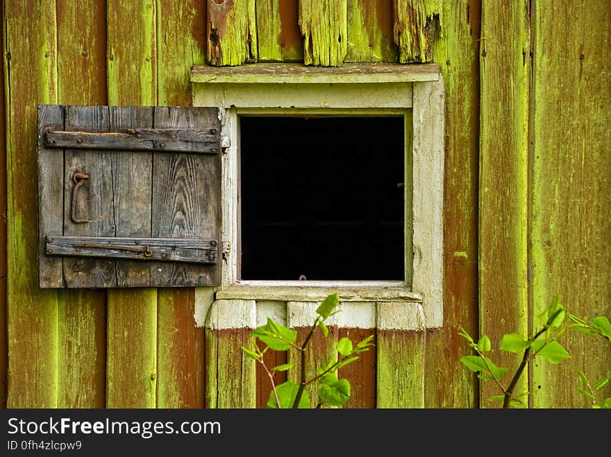
[[[56,2],[56,11],[58,103],[106,105],[106,4]],[[59,291],[58,316],[58,406],[103,408],[106,291]]]

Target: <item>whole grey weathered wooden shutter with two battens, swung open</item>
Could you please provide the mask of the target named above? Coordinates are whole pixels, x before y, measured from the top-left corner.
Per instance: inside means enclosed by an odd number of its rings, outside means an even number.
[[[216,108],[40,105],[41,288],[220,284]]]

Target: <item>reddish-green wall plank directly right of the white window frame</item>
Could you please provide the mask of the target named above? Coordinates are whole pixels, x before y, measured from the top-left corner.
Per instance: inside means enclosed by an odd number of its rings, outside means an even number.
[[[425,404],[473,408],[478,406],[478,383],[460,362],[470,349],[458,329],[478,333],[480,1],[446,0],[444,11],[444,35],[433,50],[446,90],[444,327],[426,334]]]

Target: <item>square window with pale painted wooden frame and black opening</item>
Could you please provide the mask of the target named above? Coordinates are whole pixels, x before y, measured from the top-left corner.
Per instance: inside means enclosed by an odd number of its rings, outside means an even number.
[[[442,325],[438,65],[196,67],[192,82],[194,106],[219,107],[221,120],[217,298],[350,290],[421,302],[426,327]]]

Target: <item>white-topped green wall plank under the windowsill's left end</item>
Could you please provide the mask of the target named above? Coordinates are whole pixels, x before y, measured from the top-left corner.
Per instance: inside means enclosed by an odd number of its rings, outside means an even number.
[[[243,322],[235,328],[235,322]],[[217,300],[206,322],[206,408],[256,408],[255,361],[242,353],[256,326],[254,300]]]

